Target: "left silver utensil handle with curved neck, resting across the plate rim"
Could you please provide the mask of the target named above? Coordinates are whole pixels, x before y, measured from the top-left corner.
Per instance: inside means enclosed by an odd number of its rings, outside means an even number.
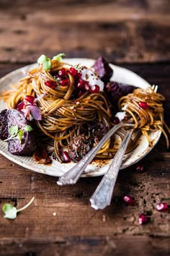
[[[66,174],[63,174],[59,179],[57,184],[58,185],[66,185],[66,184],[76,184],[79,177],[81,176],[82,172],[88,166],[88,164],[93,160],[94,156],[97,154],[97,152],[102,148],[102,145],[111,137],[117,129],[120,129],[120,127],[133,127],[133,124],[125,124],[120,123],[115,125],[115,127],[112,127],[112,129],[107,132],[104,137],[102,137],[102,140],[99,141],[99,143],[96,145],[96,147],[92,148],[92,150],[87,153],[79,163],[76,164],[76,166],[73,166],[69,171],[66,172]]]

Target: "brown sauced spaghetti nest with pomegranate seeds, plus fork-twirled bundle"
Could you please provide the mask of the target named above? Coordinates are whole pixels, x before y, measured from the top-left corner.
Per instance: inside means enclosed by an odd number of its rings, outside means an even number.
[[[43,65],[39,64],[37,69],[31,70],[27,77],[19,80],[12,90],[3,93],[1,97],[7,102],[9,108],[17,108],[27,96],[38,99],[36,106],[40,108],[42,119],[37,120],[37,126],[42,135],[46,135],[45,140],[48,137],[48,144],[53,144],[55,155],[61,162],[63,162],[61,153],[68,147],[73,137],[82,133],[91,135],[91,129],[96,123],[102,123],[107,129],[114,125],[112,123],[114,116],[110,110],[112,104],[104,91],[99,90],[98,85],[90,87],[90,82],[85,78],[82,79],[84,70],[85,77],[88,77],[91,69],[86,70],[85,67],[80,66],[71,67],[62,61],[51,60],[49,70],[45,70]],[[95,82],[99,84],[97,75],[91,74],[91,76],[93,79],[95,77]],[[152,147],[149,132],[158,129],[164,133],[169,146],[168,137],[163,129],[162,101],[164,96],[156,93],[156,90],[151,87],[146,90],[138,88],[133,93],[120,98],[120,111],[124,109],[126,112],[125,121],[135,124],[137,129],[135,137],[128,145],[128,152],[138,145],[141,132]],[[140,106],[140,103],[146,103],[146,109]],[[21,111],[27,108],[27,105],[29,104],[24,104]],[[125,129],[117,132],[116,136],[120,137],[120,142],[125,132]],[[96,157],[112,158],[120,142],[117,143],[113,135],[99,150]]]

